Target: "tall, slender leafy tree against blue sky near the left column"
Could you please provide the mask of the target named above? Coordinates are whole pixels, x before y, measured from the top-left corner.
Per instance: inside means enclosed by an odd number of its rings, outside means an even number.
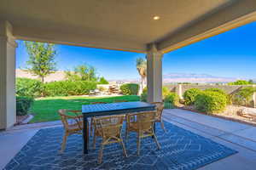
[[[43,42],[25,42],[29,59],[26,62],[27,70],[34,76],[38,76],[41,82],[44,77],[55,71],[55,45]]]

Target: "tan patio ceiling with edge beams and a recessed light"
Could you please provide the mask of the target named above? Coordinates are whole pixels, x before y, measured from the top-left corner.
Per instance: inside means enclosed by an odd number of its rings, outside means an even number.
[[[17,39],[140,53],[150,43],[166,53],[200,41],[255,20],[255,11],[255,0],[0,2]]]

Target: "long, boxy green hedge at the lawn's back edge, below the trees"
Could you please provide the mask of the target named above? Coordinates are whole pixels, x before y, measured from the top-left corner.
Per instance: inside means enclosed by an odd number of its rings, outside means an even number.
[[[96,82],[87,81],[59,81],[44,84],[45,96],[68,96],[89,94],[90,90],[96,89]]]

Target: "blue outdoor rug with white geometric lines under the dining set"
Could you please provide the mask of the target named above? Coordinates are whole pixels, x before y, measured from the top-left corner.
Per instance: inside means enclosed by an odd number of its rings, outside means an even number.
[[[128,157],[123,156],[119,144],[110,144],[103,151],[102,164],[100,165],[96,163],[100,139],[97,140],[96,150],[92,150],[90,139],[90,154],[84,156],[82,136],[76,134],[69,136],[67,149],[63,154],[60,154],[63,129],[61,127],[41,129],[9,162],[5,169],[191,170],[237,152],[168,122],[165,122],[165,126],[167,133],[164,133],[159,125],[156,127],[161,150],[157,150],[153,139],[146,138],[141,144],[141,156],[137,156],[136,133],[130,133],[125,144]]]

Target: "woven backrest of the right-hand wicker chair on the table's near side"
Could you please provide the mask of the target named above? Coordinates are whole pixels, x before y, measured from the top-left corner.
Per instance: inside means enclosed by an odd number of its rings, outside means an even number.
[[[156,111],[143,111],[127,115],[128,126],[137,127],[138,130],[148,130],[153,127]],[[136,126],[135,126],[136,125]]]

